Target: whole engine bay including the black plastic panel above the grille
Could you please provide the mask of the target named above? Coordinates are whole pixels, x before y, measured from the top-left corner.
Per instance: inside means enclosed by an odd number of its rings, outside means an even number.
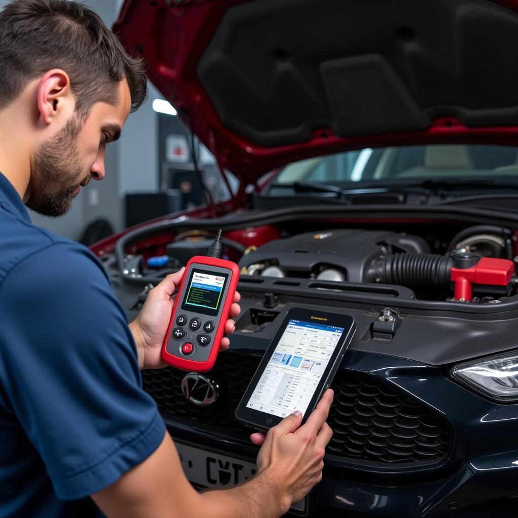
[[[354,316],[352,351],[440,367],[515,347],[516,236],[495,223],[244,211],[137,227],[94,252],[132,320],[149,291],[205,255],[223,228],[222,258],[241,272],[232,349],[266,350],[289,309],[318,308]]]

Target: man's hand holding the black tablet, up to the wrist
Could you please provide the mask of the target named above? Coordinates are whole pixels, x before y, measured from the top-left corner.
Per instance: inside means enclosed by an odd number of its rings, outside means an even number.
[[[273,485],[282,488],[280,496],[288,508],[322,479],[325,447],[333,436],[325,422],[332,402],[333,391],[328,389],[303,426],[298,412],[270,428],[267,435],[251,435],[252,442],[263,444],[257,456],[257,474],[268,474]]]

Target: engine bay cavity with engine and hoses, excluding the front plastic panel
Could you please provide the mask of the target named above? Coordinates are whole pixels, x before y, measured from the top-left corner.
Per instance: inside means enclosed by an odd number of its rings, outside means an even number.
[[[320,289],[330,291],[339,289],[333,283],[390,285],[410,290],[416,300],[469,304],[494,304],[516,293],[516,235],[508,227],[472,225],[441,239],[428,229],[417,235],[313,226],[315,230],[302,232],[294,225],[231,230],[223,234],[223,257],[238,264],[241,279],[306,279],[325,282]],[[148,240],[144,247],[134,245],[137,253],[122,258],[122,283],[155,284],[192,256],[205,255],[213,235],[193,228],[160,242]],[[459,277],[469,289],[459,287]]]

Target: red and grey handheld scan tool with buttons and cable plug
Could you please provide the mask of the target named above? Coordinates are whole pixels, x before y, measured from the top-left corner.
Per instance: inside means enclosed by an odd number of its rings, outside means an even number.
[[[221,231],[209,255],[192,257],[185,267],[162,346],[173,367],[206,372],[216,361],[239,280],[237,264],[220,253]]]

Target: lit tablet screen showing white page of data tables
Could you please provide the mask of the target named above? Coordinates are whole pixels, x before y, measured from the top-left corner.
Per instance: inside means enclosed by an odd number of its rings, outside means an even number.
[[[343,331],[343,327],[290,320],[247,408],[281,418],[294,410],[304,414]]]

